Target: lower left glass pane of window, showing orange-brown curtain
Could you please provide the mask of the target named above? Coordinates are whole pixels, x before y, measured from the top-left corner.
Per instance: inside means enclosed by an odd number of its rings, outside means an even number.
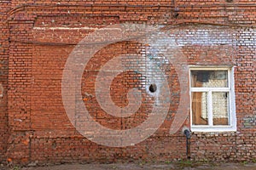
[[[192,124],[207,125],[207,92],[192,93]]]

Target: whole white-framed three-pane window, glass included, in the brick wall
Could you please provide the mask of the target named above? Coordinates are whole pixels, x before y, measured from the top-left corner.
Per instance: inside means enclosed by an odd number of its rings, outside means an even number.
[[[190,67],[191,130],[236,131],[233,69]]]

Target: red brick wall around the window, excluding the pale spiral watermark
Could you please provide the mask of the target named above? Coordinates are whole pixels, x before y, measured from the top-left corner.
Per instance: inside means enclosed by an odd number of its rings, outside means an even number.
[[[191,157],[210,161],[256,159],[256,11],[253,2],[11,1],[0,4],[8,11],[3,11],[6,15],[0,23],[2,32],[6,32],[1,35],[0,48],[5,48],[4,53],[0,52],[4,64],[1,65],[4,89],[0,100],[0,135],[3,136],[0,155],[4,155],[1,160],[44,164],[186,158],[181,129],[175,135],[169,134],[181,95],[177,72],[170,63],[161,65],[172,87],[169,112],[159,130],[143,142],[120,148],[96,144],[79,134],[68,120],[61,98],[61,78],[67,57],[74,46],[96,28],[125,22],[166,26],[162,31],[176,39],[188,65],[236,66],[237,132],[193,133]],[[154,99],[145,94],[137,114],[116,118],[102,111],[95,97],[96,75],[102,65],[119,54],[143,54],[146,47],[139,42],[113,43],[102,48],[86,65],[82,82],[87,83],[81,85],[84,105],[105,127],[122,130],[136,127],[152,110]],[[129,71],[114,79],[111,97],[116,105],[127,105],[127,91],[147,83],[138,77],[139,74]],[[189,127],[189,112],[187,115],[183,125]]]

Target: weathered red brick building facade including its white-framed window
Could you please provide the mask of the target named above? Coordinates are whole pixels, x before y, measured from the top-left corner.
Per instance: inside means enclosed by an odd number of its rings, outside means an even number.
[[[255,1],[9,0],[0,7],[0,161],[255,161]],[[115,35],[113,26],[133,25],[157,29],[146,32],[148,42],[128,38],[100,48],[84,65],[82,99],[74,97],[70,108],[82,100],[93,121],[116,131],[139,127],[156,105],[167,103],[166,115],[156,132],[136,144],[114,147],[110,136],[110,146],[97,144],[67,115],[63,71],[84,37],[109,28],[108,37]],[[138,110],[126,117],[109,115],[96,97],[96,90],[107,93],[108,87],[96,89],[103,65],[119,55],[130,57],[110,84],[113,104],[128,105],[131,88],[142,94]],[[170,99],[155,105],[164,79]],[[192,131],[189,155],[184,127]]]

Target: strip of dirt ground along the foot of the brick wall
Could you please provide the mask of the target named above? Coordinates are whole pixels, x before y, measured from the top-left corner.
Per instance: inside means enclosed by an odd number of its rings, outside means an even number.
[[[0,167],[1,170],[256,170],[256,163],[114,163],[114,164],[63,164],[45,167]]]

